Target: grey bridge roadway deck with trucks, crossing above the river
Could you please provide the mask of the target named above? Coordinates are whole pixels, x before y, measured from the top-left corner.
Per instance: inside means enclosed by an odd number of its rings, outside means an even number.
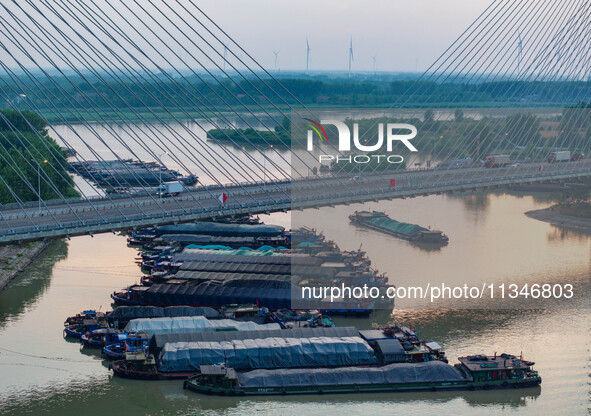
[[[408,170],[356,176],[306,178],[292,182],[198,188],[177,197],[155,195],[78,200],[38,208],[0,210],[0,242],[111,231],[125,226],[158,224],[241,213],[287,210],[382,198],[477,189],[491,185],[591,176],[591,160],[504,168]],[[395,180],[392,186],[391,179]],[[224,206],[218,200],[228,195]]]

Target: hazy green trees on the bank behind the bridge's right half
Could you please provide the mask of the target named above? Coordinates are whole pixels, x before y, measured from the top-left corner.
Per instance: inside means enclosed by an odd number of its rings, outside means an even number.
[[[582,110],[579,107],[565,108],[556,131],[546,136],[541,134],[543,128],[540,118],[535,114],[522,112],[494,119],[488,116],[474,119],[465,116],[463,110],[458,108],[454,111],[453,119],[439,119],[436,110],[427,109],[422,118],[379,117],[347,119],[345,122],[351,131],[353,123],[358,123],[360,141],[367,145],[374,144],[378,140],[377,124],[382,123],[385,126],[387,123],[409,123],[417,127],[418,134],[412,143],[421,152],[438,154],[443,158],[449,156],[482,160],[488,155],[490,149],[495,149],[501,154],[509,154],[512,160],[525,161],[526,158],[541,160],[557,149],[573,152],[589,150],[569,147],[572,143],[588,146],[584,140],[573,140],[573,135],[580,135],[582,138],[585,134],[587,134],[585,137],[588,137],[588,132],[591,132],[583,117],[579,114],[573,115],[575,111],[591,110]],[[574,126],[575,123],[579,124]],[[326,131],[329,142],[331,137],[336,140],[335,128],[328,126]],[[407,131],[400,133],[405,134]],[[405,151],[404,146],[400,146],[399,150]]]

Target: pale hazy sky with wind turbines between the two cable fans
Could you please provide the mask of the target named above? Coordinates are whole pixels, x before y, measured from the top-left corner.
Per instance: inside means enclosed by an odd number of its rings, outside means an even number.
[[[199,0],[202,10],[261,64],[345,70],[353,37],[355,70],[425,69],[492,0]]]

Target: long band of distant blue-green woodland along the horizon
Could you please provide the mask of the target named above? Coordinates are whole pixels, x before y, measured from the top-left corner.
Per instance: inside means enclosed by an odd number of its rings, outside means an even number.
[[[591,85],[579,81],[525,82],[502,81],[481,84],[437,83],[413,79],[392,80],[329,78],[328,76],[270,79],[225,79],[217,81],[187,75],[174,82],[104,83],[97,77],[41,77],[44,94],[35,85],[14,85],[24,97],[7,101],[22,109],[34,104],[52,123],[68,121],[189,119],[214,116],[215,112],[273,111],[275,106],[318,107],[396,107],[406,108],[478,108],[562,105],[572,97],[591,94]],[[7,90],[11,90],[11,88]],[[288,92],[289,91],[289,92]],[[279,95],[279,97],[277,97]],[[275,105],[269,103],[269,97]],[[7,105],[5,103],[0,103]],[[457,121],[462,115],[457,114]]]

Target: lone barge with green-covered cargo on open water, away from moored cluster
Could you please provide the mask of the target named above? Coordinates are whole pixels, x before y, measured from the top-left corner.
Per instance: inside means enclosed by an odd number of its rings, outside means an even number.
[[[445,245],[449,238],[442,231],[429,230],[416,224],[398,222],[379,211],[355,211],[349,221],[360,227],[416,243]]]

